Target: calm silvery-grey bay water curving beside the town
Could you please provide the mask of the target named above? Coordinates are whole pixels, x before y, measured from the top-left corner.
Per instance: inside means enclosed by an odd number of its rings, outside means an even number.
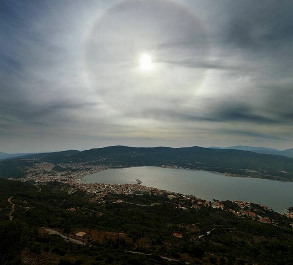
[[[147,187],[194,195],[206,200],[246,201],[286,212],[293,206],[293,182],[227,177],[207,171],[153,166],[108,169],[85,176],[85,183],[125,184],[141,180]]]

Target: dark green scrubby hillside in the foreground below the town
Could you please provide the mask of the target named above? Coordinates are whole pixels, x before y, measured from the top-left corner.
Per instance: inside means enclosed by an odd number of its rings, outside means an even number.
[[[81,191],[68,194],[60,183],[39,187],[40,191],[27,183],[0,180],[0,237],[7,238],[0,245],[0,256],[5,257],[1,264],[19,264],[21,258],[26,264],[52,265],[293,264],[292,220],[258,205],[251,204],[273,224],[211,207],[192,209],[192,200],[184,196],[170,200],[167,194],[109,194],[97,201]],[[13,220],[7,221],[11,196],[15,210]],[[239,210],[230,201],[224,206]],[[84,231],[80,240],[86,245],[66,243],[42,227],[72,238]],[[182,238],[172,236],[174,232]]]

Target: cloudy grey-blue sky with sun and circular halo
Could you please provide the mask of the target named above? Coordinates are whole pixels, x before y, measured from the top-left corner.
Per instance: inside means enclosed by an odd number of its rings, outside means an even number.
[[[292,0],[0,0],[0,151],[293,148]]]

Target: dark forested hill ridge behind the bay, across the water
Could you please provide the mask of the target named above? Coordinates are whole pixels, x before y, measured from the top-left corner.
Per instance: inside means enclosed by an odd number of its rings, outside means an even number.
[[[79,152],[63,152],[30,155],[0,162],[0,177],[21,177],[36,163],[55,166],[73,164],[110,166],[177,166],[195,170],[207,170],[233,176],[251,176],[293,181],[293,158],[259,154],[232,149],[188,148],[136,148],[111,146]]]

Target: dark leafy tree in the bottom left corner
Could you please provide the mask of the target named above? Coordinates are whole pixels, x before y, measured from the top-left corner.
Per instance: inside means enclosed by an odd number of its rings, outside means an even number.
[[[21,251],[28,245],[29,238],[26,223],[18,220],[0,223],[0,264],[21,264]]]

